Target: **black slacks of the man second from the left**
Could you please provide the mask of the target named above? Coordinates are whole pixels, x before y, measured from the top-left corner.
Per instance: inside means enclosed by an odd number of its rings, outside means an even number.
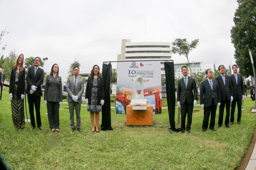
[[[28,107],[29,107],[29,114],[30,114],[30,122],[31,126],[41,127],[41,116],[40,116],[40,103],[41,103],[41,96],[36,96],[35,93],[28,95]],[[34,116],[34,105],[36,109],[36,122]]]

